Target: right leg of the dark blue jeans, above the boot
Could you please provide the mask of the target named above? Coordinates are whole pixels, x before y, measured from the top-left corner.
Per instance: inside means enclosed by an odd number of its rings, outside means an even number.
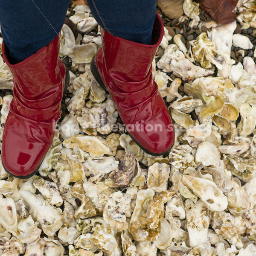
[[[87,0],[99,25],[114,36],[151,44],[157,0]]]

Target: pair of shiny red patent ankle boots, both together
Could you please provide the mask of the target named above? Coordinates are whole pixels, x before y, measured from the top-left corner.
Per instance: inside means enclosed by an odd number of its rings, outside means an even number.
[[[157,15],[151,45],[114,37],[102,29],[102,48],[91,63],[99,84],[110,93],[132,139],[148,154],[161,155],[174,143],[172,121],[151,63],[163,38]],[[34,175],[52,143],[61,99],[69,83],[58,58],[59,37],[34,55],[12,65],[3,43],[3,58],[13,74],[14,99],[4,131],[2,163],[18,178]]]

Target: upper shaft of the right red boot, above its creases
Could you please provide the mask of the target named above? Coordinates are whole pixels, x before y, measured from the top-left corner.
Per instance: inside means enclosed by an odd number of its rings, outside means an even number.
[[[152,31],[152,44],[140,44],[102,32],[102,50],[105,66],[113,79],[143,81],[151,70],[151,64],[163,38],[163,22],[157,14]]]

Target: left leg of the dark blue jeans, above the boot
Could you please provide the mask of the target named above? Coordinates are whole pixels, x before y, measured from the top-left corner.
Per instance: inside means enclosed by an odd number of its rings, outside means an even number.
[[[70,0],[0,0],[3,40],[13,64],[51,42],[63,26]]]

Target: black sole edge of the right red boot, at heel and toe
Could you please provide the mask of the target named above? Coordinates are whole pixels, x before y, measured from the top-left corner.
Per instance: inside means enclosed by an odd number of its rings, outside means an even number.
[[[101,79],[101,77],[100,77],[100,75],[99,75],[99,71],[98,71],[97,68],[96,68],[94,58],[95,58],[95,55],[93,56],[93,59],[92,59],[92,61],[91,61],[90,70],[91,70],[91,72],[92,72],[94,78],[96,79],[96,81],[99,83],[99,85],[100,85],[106,92],[108,92],[107,88],[105,87],[105,84],[103,83],[103,81],[102,81],[102,79]],[[163,152],[163,153],[153,153],[153,152],[151,152],[151,151],[148,151],[146,148],[143,147],[143,145],[141,145],[140,143],[138,143],[137,140],[135,140],[134,137],[132,137],[131,134],[130,134],[128,131],[127,131],[127,134],[131,137],[131,139],[132,139],[143,151],[145,151],[147,154],[150,154],[150,155],[155,156],[155,157],[158,157],[158,156],[161,156],[161,155],[164,155],[164,154],[168,153],[169,150],[171,150],[172,147],[173,147],[173,145],[174,145],[174,144],[173,144],[168,150],[166,150],[166,151]]]

